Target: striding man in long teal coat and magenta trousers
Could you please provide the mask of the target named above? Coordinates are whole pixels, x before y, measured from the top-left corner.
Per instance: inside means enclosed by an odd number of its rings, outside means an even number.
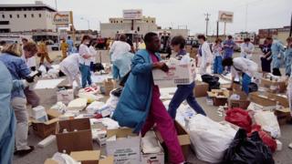
[[[170,153],[172,163],[182,163],[183,152],[179,145],[177,133],[172,118],[160,100],[159,87],[155,86],[152,69],[158,68],[168,71],[161,56],[160,39],[155,33],[148,33],[145,37],[146,50],[140,50],[132,60],[131,72],[120,95],[120,101],[113,114],[121,127],[134,128],[134,132],[141,131],[144,136],[156,123],[156,128]]]

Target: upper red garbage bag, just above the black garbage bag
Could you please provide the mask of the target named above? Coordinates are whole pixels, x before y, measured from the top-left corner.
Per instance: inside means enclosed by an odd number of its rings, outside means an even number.
[[[250,118],[248,112],[242,108],[227,110],[225,120],[240,128],[244,128],[247,132],[250,132],[252,128],[252,118]]]

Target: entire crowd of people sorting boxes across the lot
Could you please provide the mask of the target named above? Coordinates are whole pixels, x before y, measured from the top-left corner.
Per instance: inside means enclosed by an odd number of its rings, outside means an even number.
[[[232,84],[236,77],[242,77],[242,87],[246,94],[249,93],[248,85],[258,71],[258,64],[253,61],[255,46],[249,38],[241,44],[241,54],[234,57],[236,46],[232,36],[222,41],[217,38],[212,47],[203,35],[198,36],[198,73],[232,75]],[[94,86],[91,74],[97,63],[97,41],[90,36],[83,36],[78,49],[73,40],[68,36],[60,45],[62,58],[59,63],[60,70],[68,77],[68,85],[73,86],[76,81],[78,87]],[[161,132],[165,141],[172,163],[183,163],[183,152],[176,137],[173,119],[176,110],[184,100],[196,113],[206,116],[203,108],[193,96],[195,82],[190,85],[177,86],[174,96],[165,109],[160,99],[160,89],[153,83],[151,71],[162,69],[167,72],[168,67],[159,54],[161,41],[157,34],[148,33],[143,38],[143,44],[138,41],[133,44],[125,35],[120,35],[118,40],[110,46],[110,63],[112,76],[117,81],[124,79],[125,85],[120,95],[120,101],[113,114],[120,126],[134,128],[134,132],[145,135],[154,124]],[[189,56],[186,52],[186,40],[183,36],[173,36],[170,41],[175,58],[181,60]],[[34,150],[27,144],[28,113],[26,104],[32,108],[39,105],[39,97],[32,89],[38,77],[32,76],[37,71],[36,56],[40,57],[40,65],[45,59],[53,63],[48,56],[47,45],[42,40],[38,45],[28,39],[22,39],[22,45],[5,44],[0,55],[0,163],[9,163],[12,154],[26,155]],[[264,76],[272,72],[281,76],[280,67],[286,68],[286,76],[290,77],[292,64],[292,38],[287,38],[287,47],[276,39],[266,37],[262,47],[263,54],[261,66]],[[213,69],[211,69],[213,67]],[[81,81],[80,78],[81,77]],[[129,98],[130,97],[130,98]],[[14,149],[15,148],[15,149]]]

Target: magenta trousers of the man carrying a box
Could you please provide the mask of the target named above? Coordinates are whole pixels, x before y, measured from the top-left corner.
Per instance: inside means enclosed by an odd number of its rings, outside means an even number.
[[[157,86],[153,87],[151,108],[145,125],[141,129],[141,135],[144,136],[153,127],[154,123],[156,123],[158,131],[162,134],[162,138],[170,154],[169,158],[171,163],[178,164],[183,162],[183,151],[177,138],[173,120],[162,104],[159,87]]]

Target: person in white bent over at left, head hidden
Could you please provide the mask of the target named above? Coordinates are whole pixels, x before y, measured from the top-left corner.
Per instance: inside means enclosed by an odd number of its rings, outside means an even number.
[[[78,87],[81,87],[78,59],[78,53],[71,54],[59,64],[61,71],[67,76],[69,86],[71,87],[73,86],[74,80],[76,80]]]

